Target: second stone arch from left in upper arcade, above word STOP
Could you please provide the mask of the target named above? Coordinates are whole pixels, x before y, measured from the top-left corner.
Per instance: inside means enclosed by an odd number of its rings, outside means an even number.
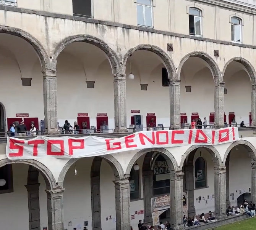
[[[120,69],[120,59],[118,58],[117,54],[103,40],[93,37],[91,35],[75,35],[75,36],[67,37],[62,42],[60,42],[60,44],[57,45],[54,51],[54,54],[52,56],[52,63],[53,63],[54,69],[56,69],[57,67],[57,58],[59,54],[64,50],[64,48],[67,45],[74,42],[86,42],[100,48],[100,50],[104,51],[104,53],[107,55],[113,74],[116,74]]]

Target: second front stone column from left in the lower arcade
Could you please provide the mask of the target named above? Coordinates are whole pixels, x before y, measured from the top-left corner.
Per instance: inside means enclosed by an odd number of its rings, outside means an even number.
[[[116,230],[131,230],[130,221],[130,182],[113,180],[115,183]]]

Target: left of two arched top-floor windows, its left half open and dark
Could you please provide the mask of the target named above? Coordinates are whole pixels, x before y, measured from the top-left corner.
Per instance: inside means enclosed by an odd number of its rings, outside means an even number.
[[[196,8],[189,8],[188,15],[190,35],[202,36],[201,11]]]

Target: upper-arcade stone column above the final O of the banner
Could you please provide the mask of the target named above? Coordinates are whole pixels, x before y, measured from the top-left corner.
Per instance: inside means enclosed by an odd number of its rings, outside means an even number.
[[[217,82],[215,85],[214,110],[216,128],[224,127],[224,85],[225,82]]]

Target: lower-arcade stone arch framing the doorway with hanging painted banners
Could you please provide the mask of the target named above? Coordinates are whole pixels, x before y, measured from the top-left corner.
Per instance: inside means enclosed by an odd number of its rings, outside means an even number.
[[[137,161],[141,156],[143,156],[144,154],[148,153],[148,152],[159,152],[162,153],[162,155],[165,157],[168,165],[170,168],[172,168],[172,170],[174,171],[180,171],[179,166],[177,161],[175,160],[175,158],[173,157],[172,153],[170,153],[168,150],[163,149],[163,148],[152,148],[150,149],[143,149],[141,151],[139,151],[138,153],[136,153],[133,158],[131,158],[127,169],[126,169],[126,174],[130,174],[131,172],[131,168],[133,167],[135,161]]]

